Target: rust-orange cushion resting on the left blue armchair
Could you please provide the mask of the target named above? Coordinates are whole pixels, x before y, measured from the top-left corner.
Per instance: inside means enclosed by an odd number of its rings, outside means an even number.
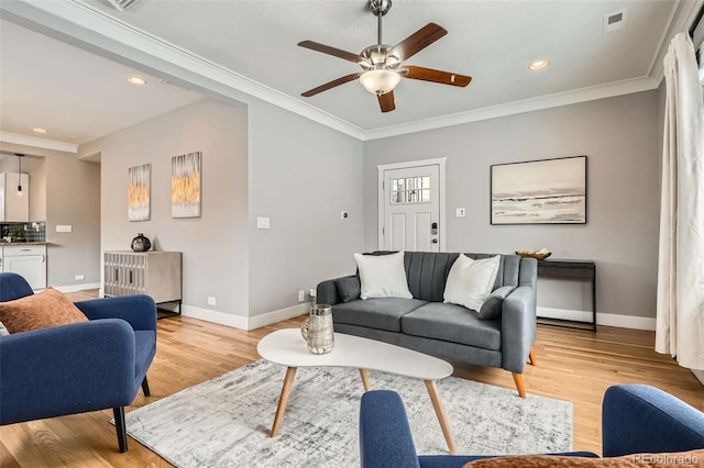
[[[88,322],[88,319],[61,291],[44,291],[0,302],[0,321],[10,333],[30,332],[50,326]]]

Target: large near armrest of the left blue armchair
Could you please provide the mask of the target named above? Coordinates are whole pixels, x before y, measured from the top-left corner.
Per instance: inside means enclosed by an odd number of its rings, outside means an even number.
[[[0,336],[0,424],[130,404],[134,355],[119,319]]]

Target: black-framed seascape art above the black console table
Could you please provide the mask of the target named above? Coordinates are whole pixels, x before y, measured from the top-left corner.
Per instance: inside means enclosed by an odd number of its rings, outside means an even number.
[[[586,156],[491,167],[492,224],[585,224]]]

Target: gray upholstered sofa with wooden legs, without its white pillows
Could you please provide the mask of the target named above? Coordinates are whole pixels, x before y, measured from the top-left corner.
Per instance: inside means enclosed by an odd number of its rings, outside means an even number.
[[[371,255],[385,255],[375,252]],[[413,299],[359,297],[359,276],[322,281],[318,303],[332,305],[334,331],[416,349],[452,361],[498,367],[514,376],[525,398],[522,372],[535,364],[536,282],[532,258],[502,255],[492,298],[496,317],[443,303],[444,285],[460,254],[406,252],[404,264]],[[490,254],[464,254],[472,259]],[[356,287],[356,289],[355,289]],[[356,297],[355,297],[356,292]],[[505,296],[505,297],[503,297]],[[482,313],[484,307],[482,307]]]

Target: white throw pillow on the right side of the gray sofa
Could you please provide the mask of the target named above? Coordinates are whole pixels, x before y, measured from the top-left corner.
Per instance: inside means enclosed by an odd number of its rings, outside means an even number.
[[[473,260],[460,254],[448,275],[444,285],[444,302],[464,305],[477,311],[486,298],[492,293],[501,255],[481,260]]]

